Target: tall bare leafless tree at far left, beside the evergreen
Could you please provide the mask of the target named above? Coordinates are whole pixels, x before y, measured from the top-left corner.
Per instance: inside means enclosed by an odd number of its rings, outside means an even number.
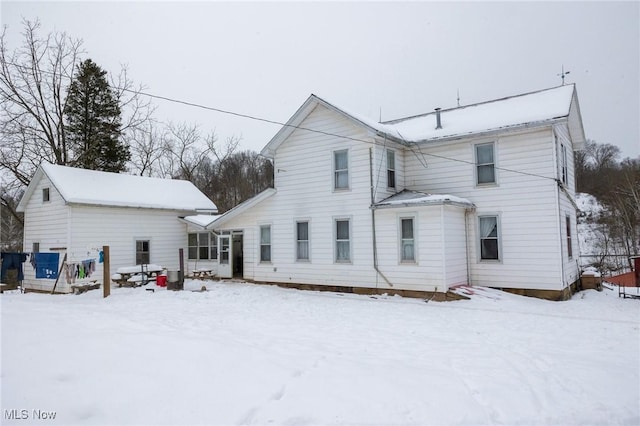
[[[0,36],[0,166],[26,185],[43,162],[66,164],[64,109],[81,40],[65,33],[38,34],[24,21],[23,43],[13,52]]]

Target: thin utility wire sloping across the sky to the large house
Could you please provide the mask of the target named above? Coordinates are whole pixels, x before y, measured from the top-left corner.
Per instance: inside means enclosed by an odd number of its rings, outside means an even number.
[[[6,63],[10,64],[10,65],[13,65],[16,68],[23,68],[23,69],[26,69],[26,70],[31,70],[30,67],[27,67],[25,65],[19,65],[19,64],[13,63],[13,62],[6,62]],[[72,77],[63,76],[62,74],[56,74],[56,73],[53,73],[53,72],[50,72],[50,71],[39,70],[39,72],[42,73],[42,74],[49,74],[49,75],[53,75],[53,76],[65,77],[65,78],[68,78],[69,80],[72,80]],[[152,98],[152,99],[160,99],[160,100],[163,100],[163,101],[172,102],[172,103],[181,104],[181,105],[186,105],[186,106],[190,106],[190,107],[193,107],[193,108],[204,109],[204,110],[207,110],[207,111],[215,111],[215,112],[219,112],[221,114],[232,115],[232,116],[235,116],[235,117],[246,118],[246,119],[254,120],[254,121],[261,121],[263,123],[275,124],[275,125],[282,126],[282,127],[291,127],[293,129],[305,130],[305,131],[308,131],[308,132],[319,133],[319,134],[322,134],[322,135],[325,135],[325,136],[331,136],[331,137],[337,137],[337,138],[341,138],[341,139],[352,140],[352,141],[355,141],[355,142],[364,142],[364,143],[368,143],[368,144],[372,144],[372,145],[381,145],[380,143],[375,142],[375,141],[372,142],[370,140],[354,138],[352,136],[338,135],[336,133],[325,132],[323,130],[311,129],[311,128],[308,128],[308,127],[302,127],[302,126],[296,126],[296,125],[293,125],[293,124],[282,123],[280,121],[269,120],[267,118],[257,117],[257,116],[250,115],[250,114],[243,114],[243,113],[239,113],[239,112],[235,112],[235,111],[229,111],[229,110],[225,110],[225,109],[221,109],[221,108],[216,108],[216,107],[211,107],[211,106],[207,106],[207,105],[197,104],[195,102],[188,102],[188,101],[183,101],[183,100],[180,100],[180,99],[170,98],[168,96],[161,96],[161,95],[156,95],[156,94],[153,94],[153,93],[143,92],[141,90],[132,90],[132,89],[127,89],[127,88],[122,88],[122,87],[114,87],[114,86],[111,86],[111,85],[109,85],[109,86],[112,87],[112,89],[115,89],[115,90],[120,90],[120,91],[123,91],[123,92],[129,92],[129,93],[133,93],[133,94],[136,94],[136,95],[148,96],[149,98]],[[452,158],[452,157],[447,157],[447,156],[444,156],[444,155],[438,155],[438,154],[431,154],[431,153],[427,153],[427,152],[422,152],[422,150],[420,149],[420,147],[417,145],[416,142],[410,142],[410,141],[406,140],[399,132],[398,132],[398,135],[400,136],[400,139],[405,144],[405,146],[411,150],[411,152],[415,155],[415,157],[418,160],[418,162],[425,169],[427,168],[427,163],[424,160],[424,156],[425,155],[426,156],[430,156],[430,157],[434,157],[434,158],[439,158],[439,159],[442,159],[442,160],[455,161],[455,162],[458,162],[458,163],[464,163],[464,164],[477,166],[477,163],[475,163],[473,161],[467,161],[467,160],[462,160],[462,159],[459,159],[459,158]],[[385,134],[385,138],[386,138],[386,134]],[[385,146],[386,146],[386,140],[385,140]],[[414,147],[418,148],[418,152],[423,156],[423,159],[420,159],[418,157],[418,154],[413,149]],[[502,170],[502,171],[505,171],[505,172],[517,173],[517,174],[521,174],[521,175],[525,175],[525,176],[548,179],[548,180],[553,180],[553,181],[557,182],[556,178],[549,177],[549,176],[543,176],[543,175],[538,175],[538,174],[535,174],[535,173],[523,172],[523,171],[520,171],[520,170],[508,169],[506,167],[498,167],[498,166],[495,166],[495,165],[494,165],[494,168],[496,170]]]

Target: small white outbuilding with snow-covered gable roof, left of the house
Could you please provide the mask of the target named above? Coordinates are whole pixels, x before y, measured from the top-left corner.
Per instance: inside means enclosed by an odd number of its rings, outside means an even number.
[[[181,217],[217,208],[188,181],[42,164],[18,211],[24,212],[24,251],[54,259],[44,269],[25,264],[23,285],[50,291],[65,255],[67,264],[94,261],[94,278],[102,282],[104,245],[111,271],[141,263],[177,270],[178,250],[188,244]],[[62,275],[56,291],[69,292],[66,271]]]

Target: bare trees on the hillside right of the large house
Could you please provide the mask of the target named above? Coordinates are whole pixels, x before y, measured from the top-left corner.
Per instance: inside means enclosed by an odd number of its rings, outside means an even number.
[[[587,141],[575,153],[576,189],[595,196],[604,207],[594,218],[597,255],[593,264],[604,272],[631,269],[640,255],[640,157],[620,160],[620,149]]]

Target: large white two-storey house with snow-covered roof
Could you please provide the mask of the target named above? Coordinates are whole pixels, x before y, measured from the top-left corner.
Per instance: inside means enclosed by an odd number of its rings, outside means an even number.
[[[218,235],[221,277],[564,299],[584,141],[573,85],[384,123],[311,95],[262,150],[275,188],[200,230]]]

